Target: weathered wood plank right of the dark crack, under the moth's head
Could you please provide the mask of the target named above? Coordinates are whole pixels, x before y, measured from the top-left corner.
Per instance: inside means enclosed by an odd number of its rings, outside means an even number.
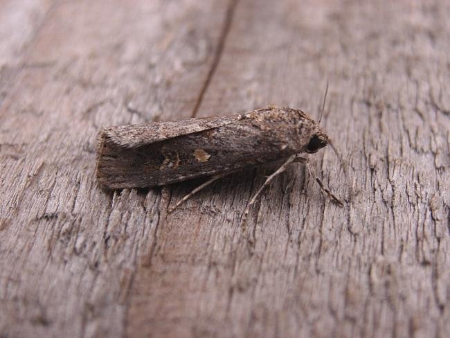
[[[142,327],[280,337],[449,331],[450,124],[429,96],[449,103],[448,10],[443,3],[237,4],[197,116],[269,103],[314,113],[330,80],[324,124],[349,163],[352,195],[325,151],[318,168],[350,198],[345,211],[298,167],[272,184],[245,234],[237,215],[263,181],[257,175],[250,185],[253,172],[163,216],[152,265],[138,270],[132,287],[131,334]],[[187,191],[177,186],[172,199]]]

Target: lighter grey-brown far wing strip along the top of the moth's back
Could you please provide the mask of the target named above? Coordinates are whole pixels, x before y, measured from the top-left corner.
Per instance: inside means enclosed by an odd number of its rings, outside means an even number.
[[[105,127],[100,130],[100,145],[107,141],[120,148],[138,148],[176,136],[202,132],[239,121],[240,115],[190,118],[186,121]]]

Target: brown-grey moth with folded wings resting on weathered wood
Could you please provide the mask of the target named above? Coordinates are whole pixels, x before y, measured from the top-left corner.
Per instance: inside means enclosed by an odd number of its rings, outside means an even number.
[[[234,116],[102,128],[97,177],[107,188],[165,186],[210,177],[177,202],[177,208],[213,181],[233,172],[280,163],[253,195],[245,215],[270,181],[289,163],[305,163],[321,189],[342,206],[309,166],[307,154],[330,144],[325,130],[305,112],[270,106]],[[334,148],[333,148],[334,149]]]

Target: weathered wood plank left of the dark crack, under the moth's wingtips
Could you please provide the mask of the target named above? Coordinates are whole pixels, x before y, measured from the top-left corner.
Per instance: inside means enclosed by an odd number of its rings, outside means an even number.
[[[0,112],[0,332],[120,336],[159,190],[102,192],[103,125],[188,117],[226,3],[58,1],[28,42]],[[29,65],[37,66],[29,66]],[[152,112],[141,114],[140,112]]]

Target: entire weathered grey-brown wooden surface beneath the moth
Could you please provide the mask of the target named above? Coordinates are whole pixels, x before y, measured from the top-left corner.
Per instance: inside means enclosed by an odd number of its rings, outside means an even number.
[[[450,3],[0,1],[1,337],[448,337]],[[330,148],[102,191],[106,125],[268,104]]]

